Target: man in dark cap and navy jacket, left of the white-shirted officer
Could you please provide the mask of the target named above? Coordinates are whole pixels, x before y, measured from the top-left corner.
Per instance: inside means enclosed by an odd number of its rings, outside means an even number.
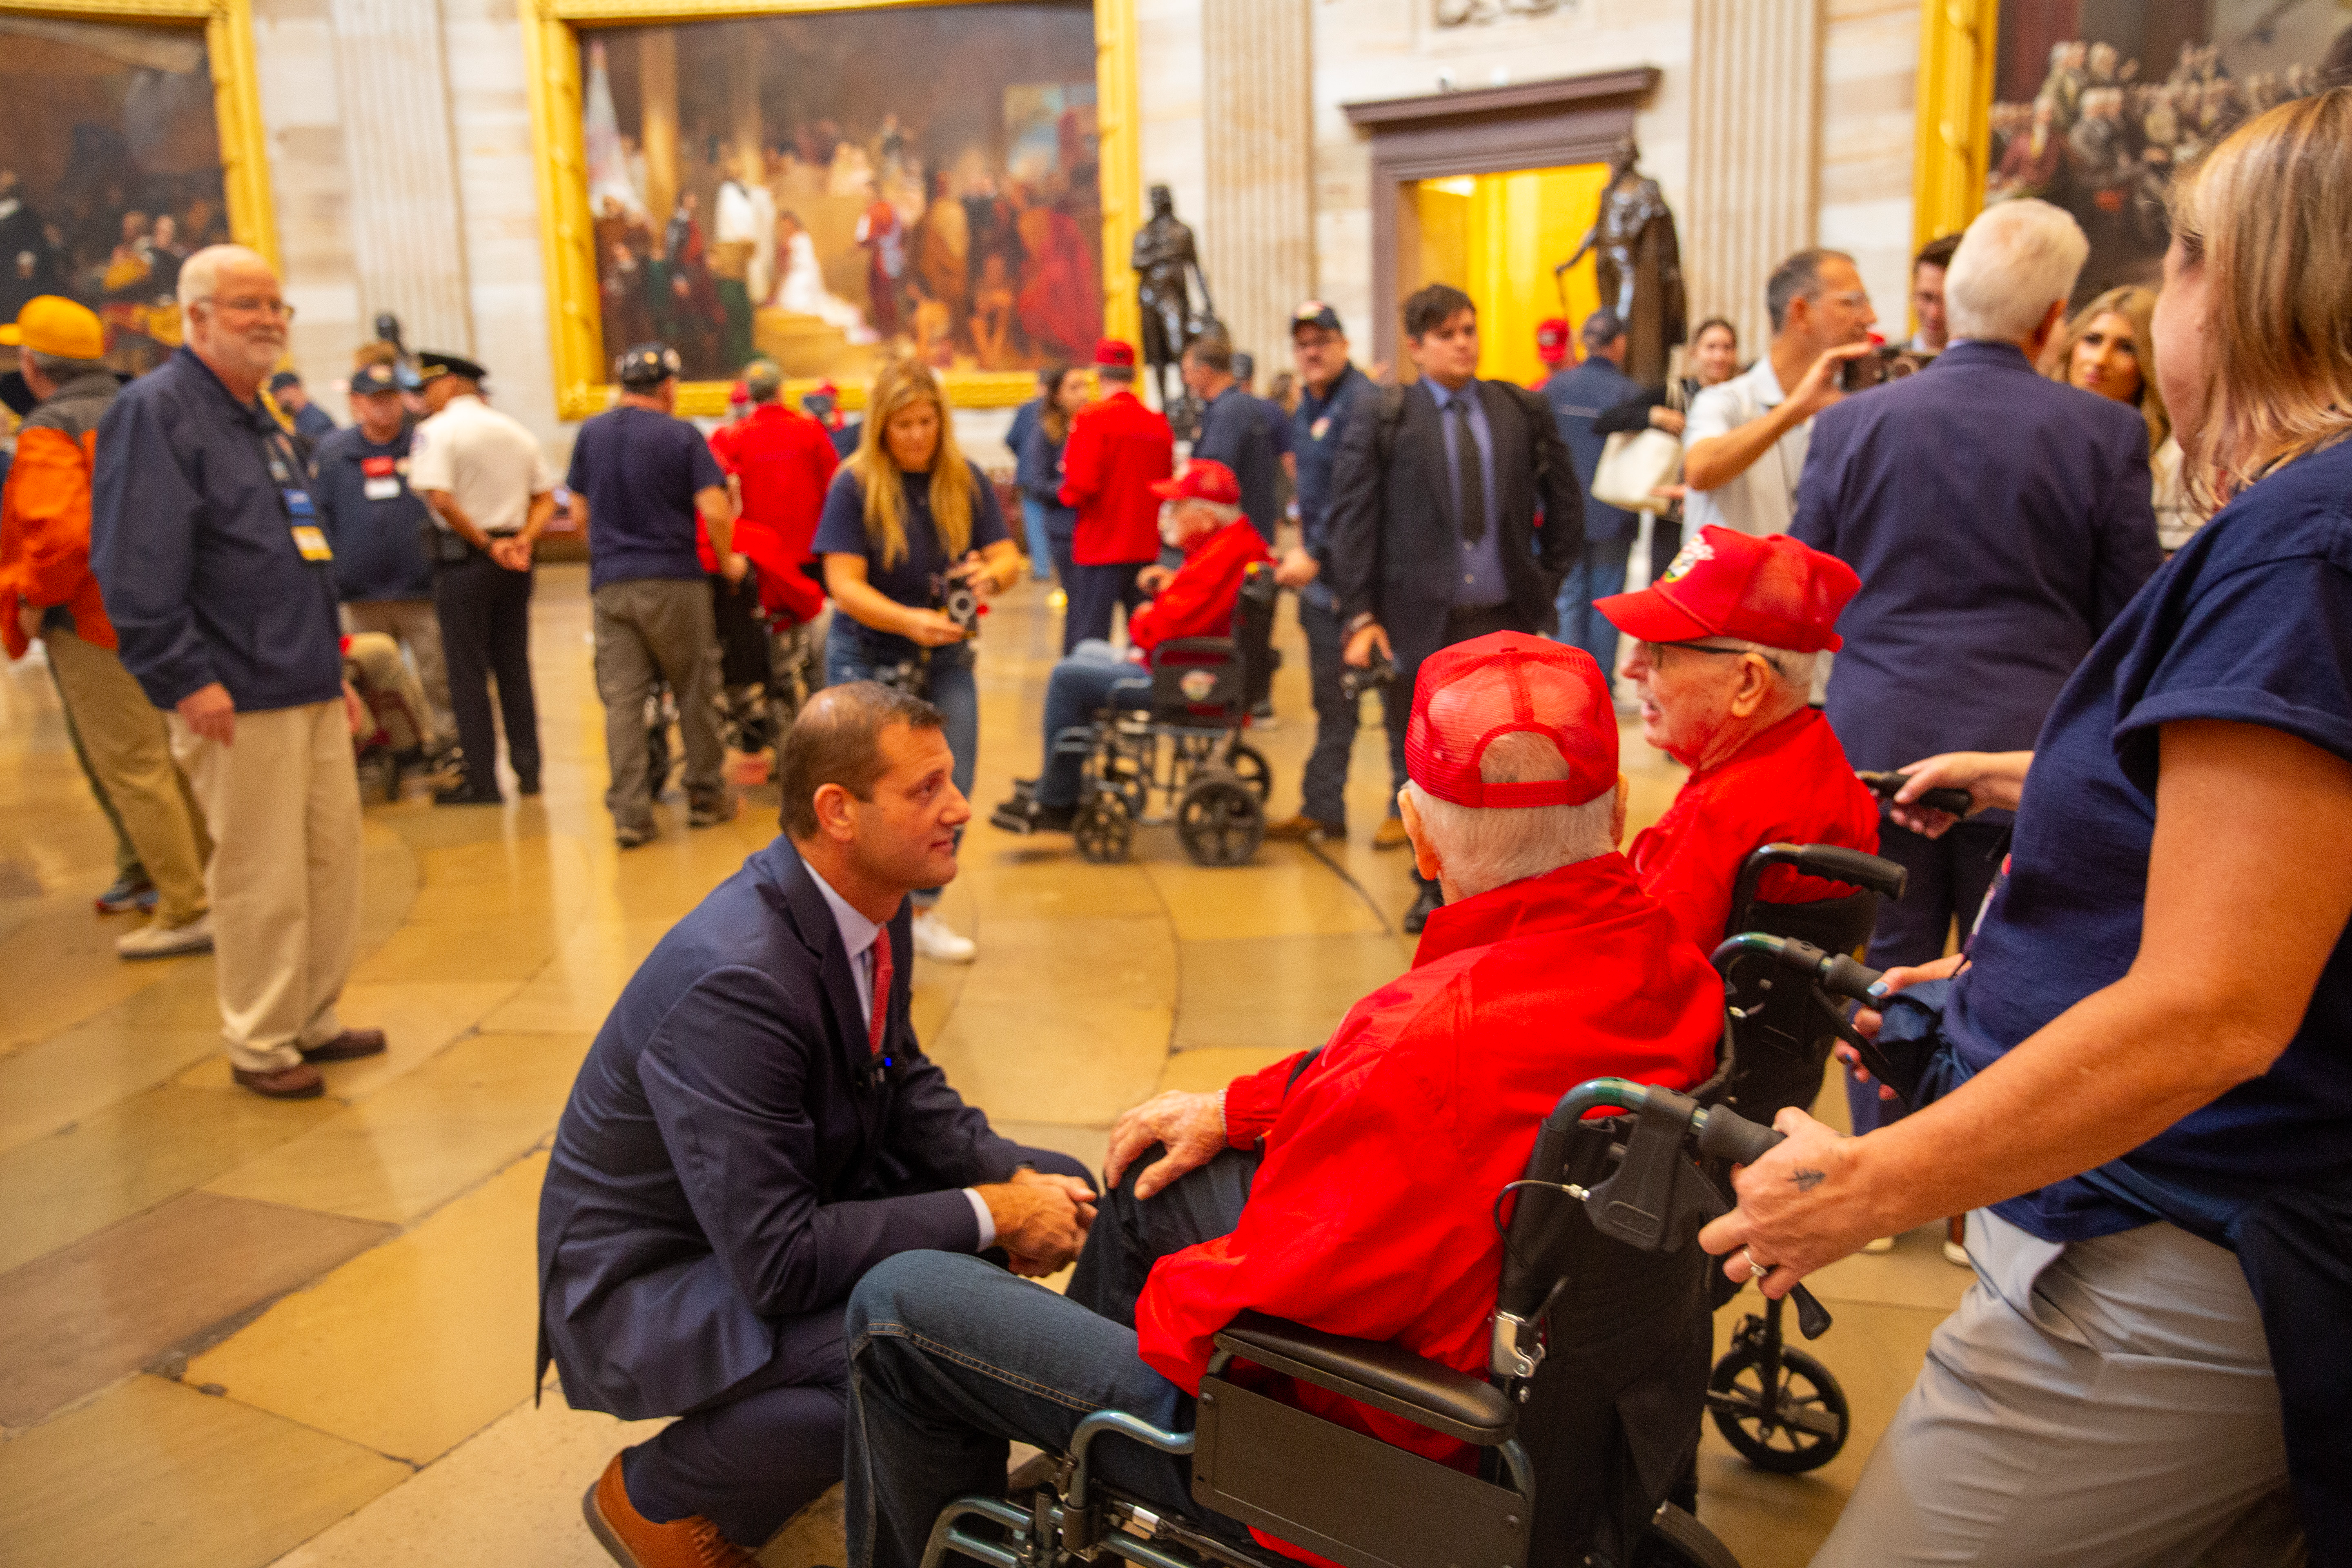
[[[343,630],[383,632],[409,651],[428,703],[409,717],[426,757],[440,757],[456,743],[456,719],[426,548],[435,524],[409,489],[412,430],[393,367],[362,364],[350,374],[350,411],[360,423],[336,430],[310,454],[310,501],[334,548]]]

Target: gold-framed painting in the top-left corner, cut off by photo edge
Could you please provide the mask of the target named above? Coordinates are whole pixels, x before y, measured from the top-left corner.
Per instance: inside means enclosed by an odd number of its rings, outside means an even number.
[[[278,254],[247,0],[0,0],[0,320],[66,294],[143,371],[223,240]]]

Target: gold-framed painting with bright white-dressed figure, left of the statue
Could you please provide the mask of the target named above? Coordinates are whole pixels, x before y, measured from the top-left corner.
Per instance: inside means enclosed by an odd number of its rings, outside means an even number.
[[[1025,402],[1131,331],[1134,0],[522,5],[564,418],[644,341],[717,414],[753,357]]]

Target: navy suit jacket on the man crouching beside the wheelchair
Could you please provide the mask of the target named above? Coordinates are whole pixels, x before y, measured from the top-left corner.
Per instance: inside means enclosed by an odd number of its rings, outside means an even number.
[[[833,910],[790,839],[661,938],[581,1063],[539,1194],[539,1371],[623,1420],[677,1415],[814,1335],[891,1253],[969,1253],[962,1187],[1021,1164],[915,1044],[908,910],[889,924],[884,1056]],[[807,1354],[816,1356],[816,1349]]]

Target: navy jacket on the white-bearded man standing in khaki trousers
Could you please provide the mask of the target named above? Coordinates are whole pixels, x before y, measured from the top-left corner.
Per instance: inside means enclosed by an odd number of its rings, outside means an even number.
[[[334,571],[301,557],[287,491],[308,505],[294,437],[188,348],[99,421],[89,569],[158,708],[212,682],[240,712],[343,693]]]

